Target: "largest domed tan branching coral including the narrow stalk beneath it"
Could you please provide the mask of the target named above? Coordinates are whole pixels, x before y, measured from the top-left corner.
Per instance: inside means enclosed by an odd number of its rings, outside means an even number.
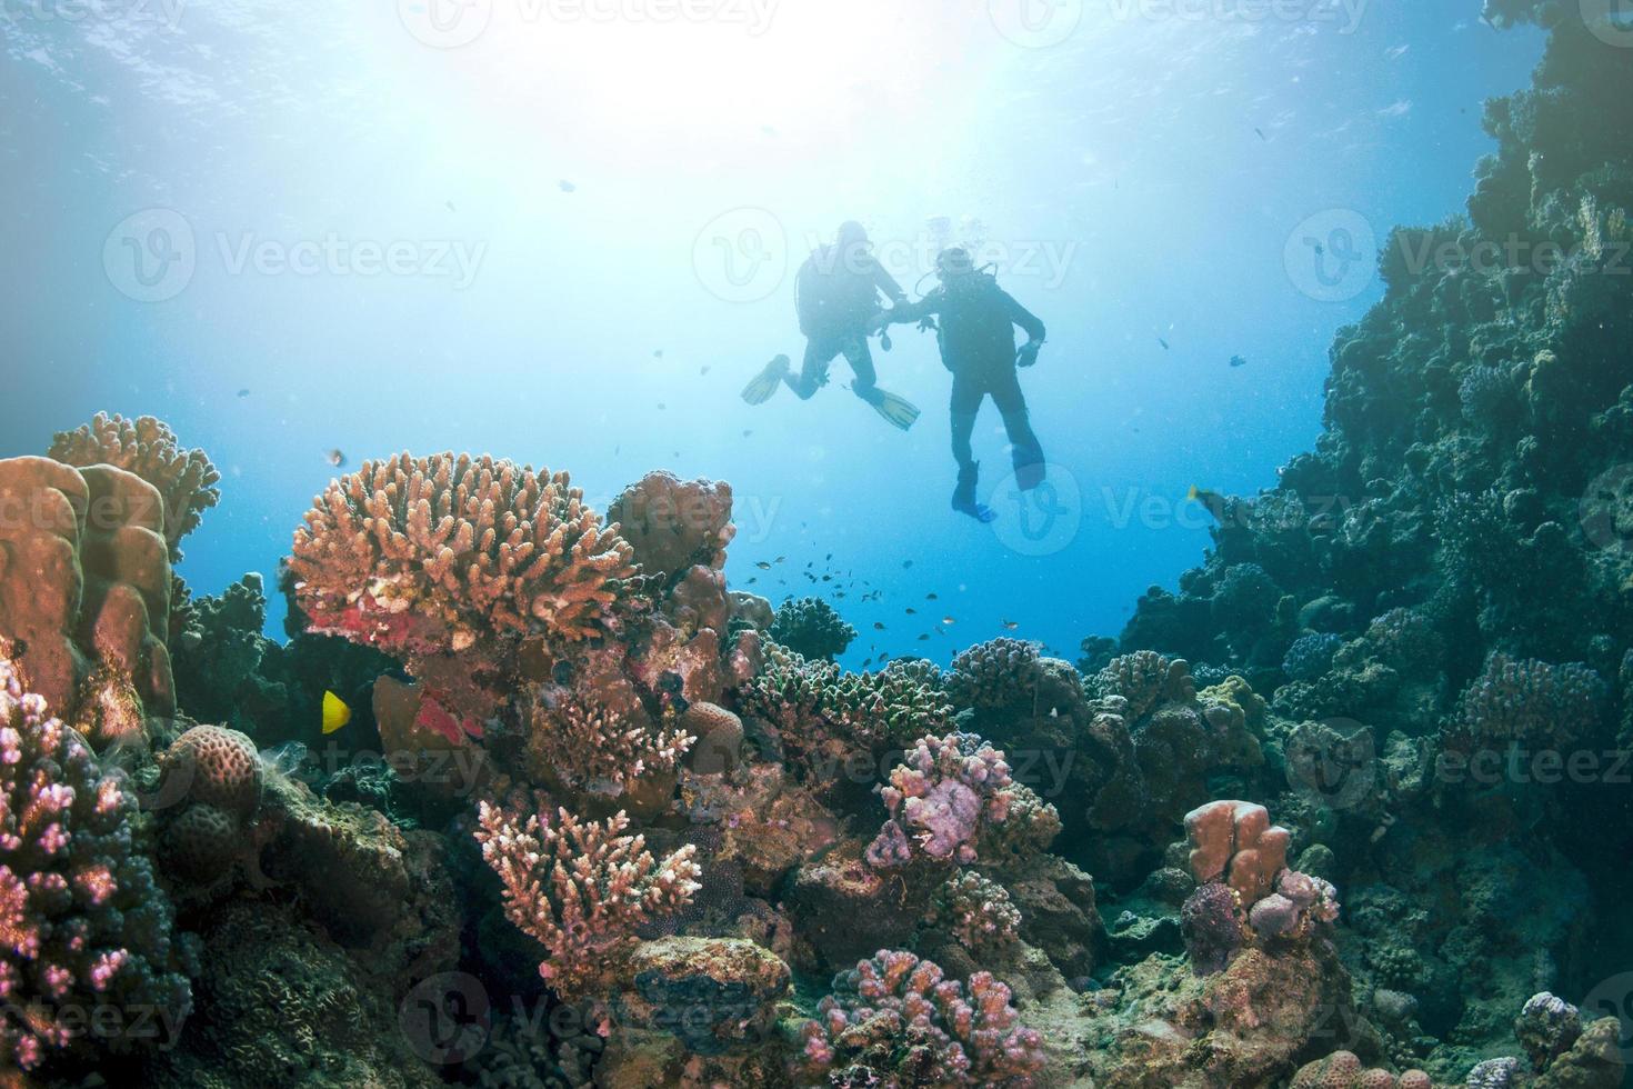
[[[420,725],[482,736],[526,638],[606,633],[630,545],[567,473],[402,454],[333,482],[289,560],[310,629],[374,645],[425,684]]]

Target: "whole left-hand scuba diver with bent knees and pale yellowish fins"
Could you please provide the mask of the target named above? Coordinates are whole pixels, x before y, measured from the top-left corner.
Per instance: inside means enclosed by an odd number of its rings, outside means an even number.
[[[810,400],[828,384],[828,364],[843,354],[856,374],[851,392],[890,424],[903,431],[911,428],[918,408],[879,389],[874,356],[867,349],[869,327],[880,313],[879,296],[895,305],[906,302],[901,286],[874,258],[867,230],[857,222],[843,224],[834,245],[820,247],[805,260],[794,287],[800,333],[805,335],[805,362],[794,376],[789,358],[777,356],[743,389],[743,400],[763,405],[784,382],[795,397]],[[888,336],[883,348],[890,349]]]

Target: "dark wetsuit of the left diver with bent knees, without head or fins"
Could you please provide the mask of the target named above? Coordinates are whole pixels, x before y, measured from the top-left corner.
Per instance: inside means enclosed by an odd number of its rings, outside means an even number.
[[[800,266],[799,294],[805,362],[797,377],[787,376],[789,389],[808,400],[828,380],[828,364],[843,354],[856,374],[851,390],[877,403],[879,376],[867,348],[867,323],[880,310],[880,294],[895,305],[906,299],[901,286],[870,253],[857,248],[846,255],[839,247],[823,247]]]

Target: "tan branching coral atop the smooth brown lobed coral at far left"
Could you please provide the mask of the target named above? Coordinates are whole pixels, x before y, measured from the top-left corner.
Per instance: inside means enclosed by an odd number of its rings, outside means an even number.
[[[96,413],[77,431],[59,431],[51,442],[52,460],[85,469],[113,465],[132,472],[158,490],[165,504],[165,542],[171,562],[181,558],[181,539],[198,529],[199,518],[220,501],[220,473],[204,451],[185,451],[176,434],[154,416],[126,420]]]

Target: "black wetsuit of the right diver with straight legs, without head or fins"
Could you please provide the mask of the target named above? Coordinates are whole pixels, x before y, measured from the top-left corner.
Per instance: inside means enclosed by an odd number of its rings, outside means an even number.
[[[959,469],[975,469],[970,434],[986,397],[1003,413],[1016,465],[1040,464],[1043,451],[1032,431],[1016,374],[1014,327],[1019,325],[1034,341],[1042,341],[1043,323],[999,287],[998,281],[981,273],[959,276],[919,302],[890,312],[892,322],[928,317],[937,318],[941,362],[952,371],[952,456],[959,460]]]

